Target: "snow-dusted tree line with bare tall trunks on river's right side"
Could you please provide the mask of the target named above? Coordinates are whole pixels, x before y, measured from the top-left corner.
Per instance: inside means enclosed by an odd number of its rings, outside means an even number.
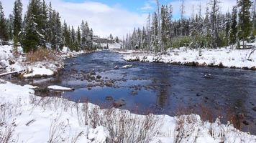
[[[235,45],[244,48],[244,41],[252,41],[256,35],[255,2],[237,0],[232,12],[226,13],[220,11],[220,2],[209,0],[205,14],[201,12],[201,4],[197,12],[193,6],[192,16],[186,17],[183,0],[180,19],[173,20],[173,6],[160,6],[157,0],[157,11],[148,15],[146,26],[134,28],[132,34],[127,34],[124,48],[155,52],[181,46],[198,49]]]

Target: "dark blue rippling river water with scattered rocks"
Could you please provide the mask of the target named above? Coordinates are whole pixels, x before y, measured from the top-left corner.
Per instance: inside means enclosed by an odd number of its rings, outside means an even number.
[[[67,59],[65,69],[50,79],[24,79],[39,85],[40,96],[60,96],[138,114],[200,114],[205,120],[236,117],[244,132],[256,134],[256,73],[242,69],[127,62],[123,54],[96,51]],[[132,65],[129,68],[122,66]],[[115,67],[119,67],[115,69]],[[95,72],[95,73],[94,73]],[[96,75],[94,75],[96,74]],[[206,78],[206,74],[211,74]],[[100,75],[101,78],[91,77]],[[111,83],[111,85],[108,85]],[[74,87],[74,92],[52,92],[47,86]],[[109,100],[106,99],[109,97]]]

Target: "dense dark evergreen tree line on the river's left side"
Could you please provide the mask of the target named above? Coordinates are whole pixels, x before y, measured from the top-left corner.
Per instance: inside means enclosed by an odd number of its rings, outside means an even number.
[[[67,46],[71,51],[91,50],[93,29],[82,21],[78,29],[60,21],[60,14],[45,0],[29,0],[27,11],[22,17],[22,1],[14,1],[9,18],[5,18],[0,1],[0,39],[14,41],[14,47],[22,46],[23,51],[40,48],[61,50]]]

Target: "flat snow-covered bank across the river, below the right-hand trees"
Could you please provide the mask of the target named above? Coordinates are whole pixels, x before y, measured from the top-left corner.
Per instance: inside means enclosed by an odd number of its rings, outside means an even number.
[[[124,56],[127,61],[161,62],[191,66],[224,66],[239,69],[256,69],[256,52],[253,49],[173,49],[165,54],[132,52]]]

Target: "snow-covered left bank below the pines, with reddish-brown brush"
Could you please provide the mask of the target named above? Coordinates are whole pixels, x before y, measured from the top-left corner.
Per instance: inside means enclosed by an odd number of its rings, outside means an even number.
[[[12,46],[0,46],[0,74],[22,71],[22,77],[25,78],[52,77],[58,73],[58,69],[63,69],[63,59],[85,53],[85,51],[70,51],[67,47],[64,47],[61,54],[55,55],[55,60],[45,59],[44,61],[27,62],[22,47],[19,46],[17,54],[15,54]]]

